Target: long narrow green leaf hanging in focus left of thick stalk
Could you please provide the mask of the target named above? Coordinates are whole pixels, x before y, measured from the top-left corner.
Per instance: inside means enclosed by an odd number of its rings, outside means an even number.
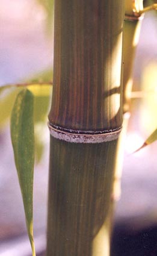
[[[33,239],[33,176],[34,176],[34,96],[28,89],[17,95],[11,113],[11,141],[14,159],[19,176],[26,227],[35,256]]]

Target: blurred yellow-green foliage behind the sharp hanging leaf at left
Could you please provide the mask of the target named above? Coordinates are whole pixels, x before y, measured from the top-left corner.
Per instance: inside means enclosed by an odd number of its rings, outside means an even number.
[[[49,103],[52,94],[52,69],[37,73],[26,83],[8,84],[0,87],[0,130],[10,117],[17,93],[22,87],[28,88],[34,95],[35,161],[42,159],[45,141],[42,139],[47,126]]]

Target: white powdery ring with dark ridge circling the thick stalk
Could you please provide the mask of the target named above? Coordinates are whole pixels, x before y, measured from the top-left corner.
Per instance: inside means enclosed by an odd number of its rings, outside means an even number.
[[[50,134],[55,139],[64,140],[71,143],[102,143],[110,142],[111,140],[116,140],[119,137],[121,128],[116,131],[111,131],[109,133],[100,134],[79,134],[79,133],[68,133],[67,131],[61,131],[48,123]]]

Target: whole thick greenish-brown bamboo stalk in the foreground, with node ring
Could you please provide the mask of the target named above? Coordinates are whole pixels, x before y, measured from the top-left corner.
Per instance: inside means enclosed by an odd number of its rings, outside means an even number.
[[[123,0],[55,1],[47,256],[108,256]]]

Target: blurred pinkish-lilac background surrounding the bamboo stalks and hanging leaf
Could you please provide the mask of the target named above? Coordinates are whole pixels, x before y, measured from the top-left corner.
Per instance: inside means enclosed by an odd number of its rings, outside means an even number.
[[[44,77],[51,81],[53,13],[42,0],[0,1],[0,84]],[[49,19],[49,22],[48,22]],[[51,25],[50,25],[51,24]],[[157,126],[157,15],[147,13],[134,67],[131,118],[125,142],[122,196],[115,210],[112,256],[157,255],[157,143],[136,154]],[[8,92],[7,92],[8,93]],[[8,116],[14,90],[0,95],[0,256],[29,256],[25,216],[11,147]],[[40,96],[40,95],[39,95]],[[46,95],[46,97],[49,97]],[[140,98],[139,98],[140,97]],[[4,100],[5,99],[5,100]],[[42,111],[48,114],[49,105]],[[37,256],[46,246],[49,130],[46,119],[35,123],[37,157],[34,172],[34,237]],[[40,161],[39,161],[40,160]]]

